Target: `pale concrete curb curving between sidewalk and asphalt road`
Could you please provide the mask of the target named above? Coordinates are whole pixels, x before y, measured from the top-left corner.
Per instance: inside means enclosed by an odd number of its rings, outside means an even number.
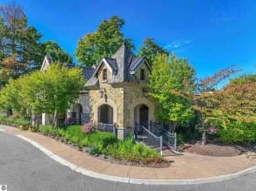
[[[75,164],[72,164],[71,162],[68,162],[64,158],[54,154],[51,150],[43,147],[39,143],[32,141],[31,139],[28,139],[27,137],[24,137],[22,135],[17,135],[20,139],[23,139],[24,141],[27,141],[28,143],[32,144],[33,146],[39,148],[42,152],[44,152],[47,156],[55,160],[56,162],[69,167],[70,169],[76,171],[77,173],[81,173],[83,175],[87,175],[89,177],[93,177],[96,179],[104,179],[107,181],[114,181],[114,182],[125,182],[125,183],[131,183],[131,184],[205,184],[210,182],[219,182],[219,181],[226,181],[229,179],[234,179],[241,177],[242,175],[246,175],[249,173],[256,172],[256,165],[249,167],[247,169],[244,169],[242,171],[238,171],[236,173],[230,173],[227,175],[220,175],[217,177],[207,177],[207,178],[200,178],[200,179],[134,179],[134,178],[127,178],[127,177],[116,177],[112,175],[104,175],[101,173],[95,173],[93,171],[89,171],[87,169],[83,169],[82,167],[79,167]]]

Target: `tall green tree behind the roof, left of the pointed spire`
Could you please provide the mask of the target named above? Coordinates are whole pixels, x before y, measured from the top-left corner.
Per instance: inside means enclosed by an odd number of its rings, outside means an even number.
[[[125,20],[112,16],[110,20],[103,20],[95,33],[87,33],[77,42],[75,56],[80,65],[91,67],[98,63],[102,56],[111,57],[120,48],[123,40],[126,41],[129,48],[135,50],[131,44],[132,39],[123,39],[121,27]]]

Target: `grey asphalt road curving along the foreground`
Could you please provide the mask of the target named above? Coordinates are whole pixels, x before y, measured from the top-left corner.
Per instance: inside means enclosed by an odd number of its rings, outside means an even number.
[[[0,131],[0,185],[9,190],[256,190],[256,173],[196,185],[146,185],[104,181],[58,164],[22,139]],[[0,188],[1,191],[1,188]]]

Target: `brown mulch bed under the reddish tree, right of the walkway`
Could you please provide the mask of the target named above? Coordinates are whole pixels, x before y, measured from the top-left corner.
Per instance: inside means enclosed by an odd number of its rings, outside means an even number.
[[[247,152],[256,152],[256,143],[238,144],[238,143],[221,143],[217,140],[207,140],[203,145],[201,141],[190,140],[181,147],[180,152],[189,152],[203,156],[230,157],[245,154]]]

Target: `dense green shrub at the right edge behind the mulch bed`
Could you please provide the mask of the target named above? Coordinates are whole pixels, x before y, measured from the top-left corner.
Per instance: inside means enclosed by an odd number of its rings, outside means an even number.
[[[230,121],[226,122],[225,126],[220,123],[215,127],[218,128],[219,141],[225,143],[251,143],[256,141],[256,123],[254,122]]]

